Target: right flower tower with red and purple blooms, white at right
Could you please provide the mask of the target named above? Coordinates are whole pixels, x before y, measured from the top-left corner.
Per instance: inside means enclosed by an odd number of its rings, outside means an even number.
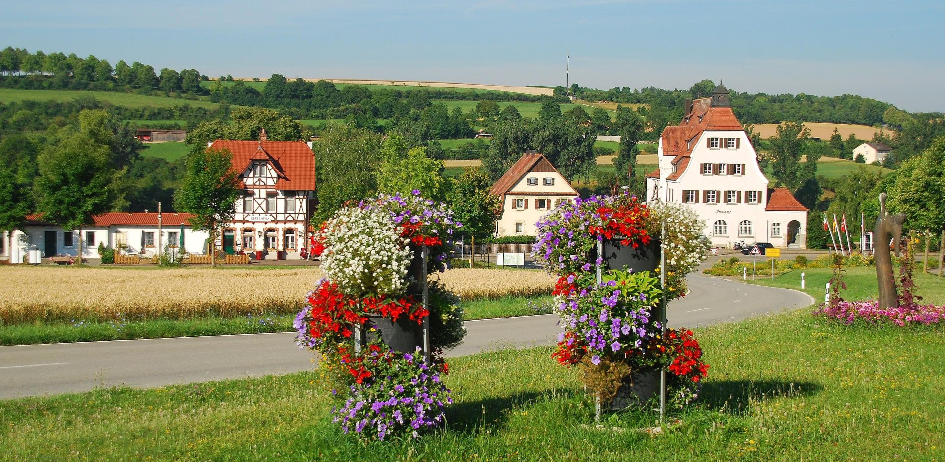
[[[698,396],[709,366],[691,331],[666,329],[654,313],[661,299],[685,293],[685,274],[696,268],[709,244],[702,223],[687,207],[641,204],[635,196],[594,196],[564,204],[538,224],[536,260],[558,273],[552,295],[563,331],[553,354],[559,363],[582,368],[582,378],[607,400],[635,371],[666,368],[670,404]],[[613,270],[596,282],[596,242],[618,239],[639,248],[662,236],[666,283],[656,272]],[[593,258],[593,261],[591,261]]]

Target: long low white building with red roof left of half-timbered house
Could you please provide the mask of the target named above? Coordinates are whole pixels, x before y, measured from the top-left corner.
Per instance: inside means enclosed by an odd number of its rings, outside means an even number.
[[[92,217],[91,224],[79,230],[65,230],[48,223],[42,215],[27,217],[23,230],[4,231],[6,244],[0,257],[11,263],[22,263],[26,251],[39,250],[43,257],[77,256],[78,239],[82,239],[86,258],[98,257],[98,244],[123,249],[126,254],[153,256],[163,247],[182,248],[192,254],[206,252],[209,234],[194,231],[186,213],[110,212]]]

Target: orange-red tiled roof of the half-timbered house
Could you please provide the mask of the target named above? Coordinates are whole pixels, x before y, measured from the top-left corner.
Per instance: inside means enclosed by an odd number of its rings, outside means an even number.
[[[279,177],[276,190],[315,190],[315,154],[304,141],[215,140],[211,148],[229,150],[238,173],[254,159],[268,161]]]

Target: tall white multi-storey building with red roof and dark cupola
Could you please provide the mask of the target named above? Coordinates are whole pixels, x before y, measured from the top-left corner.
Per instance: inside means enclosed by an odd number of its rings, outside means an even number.
[[[679,125],[662,132],[657,159],[658,168],[646,175],[646,200],[693,208],[713,246],[745,240],[806,248],[807,208],[790,190],[768,188],[724,86],[712,97],[686,101]]]

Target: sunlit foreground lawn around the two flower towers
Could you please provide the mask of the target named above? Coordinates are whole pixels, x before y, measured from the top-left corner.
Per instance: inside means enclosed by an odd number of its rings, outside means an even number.
[[[593,425],[550,348],[451,360],[447,431],[359,443],[318,371],[0,401],[10,460],[942,460],[940,329],[851,328],[807,310],[698,329],[701,400],[662,436],[640,412]],[[617,430],[612,430],[616,428]]]

